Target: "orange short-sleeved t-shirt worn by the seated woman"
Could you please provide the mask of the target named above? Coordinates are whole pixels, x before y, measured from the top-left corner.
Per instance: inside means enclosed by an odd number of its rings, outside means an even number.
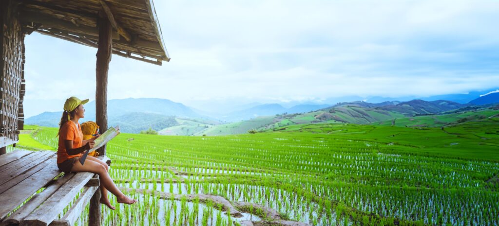
[[[68,155],[64,140],[73,140],[73,148],[78,148],[82,146],[83,133],[81,132],[81,126],[78,122],[78,126],[74,124],[73,121],[67,121],[62,125],[59,134],[59,147],[57,148],[57,163],[64,162],[67,159],[82,156],[83,153]]]

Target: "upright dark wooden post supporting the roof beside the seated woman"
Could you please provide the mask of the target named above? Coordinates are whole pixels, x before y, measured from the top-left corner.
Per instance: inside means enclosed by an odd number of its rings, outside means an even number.
[[[99,13],[97,21],[99,27],[99,41],[97,48],[97,63],[95,68],[96,88],[95,88],[95,113],[96,122],[99,125],[100,133],[107,129],[107,72],[112,53],[112,26],[109,19],[103,13]],[[97,150],[99,155],[106,154],[106,146]],[[98,189],[90,199],[88,212],[88,226],[100,226],[101,216],[99,203],[101,194]]]

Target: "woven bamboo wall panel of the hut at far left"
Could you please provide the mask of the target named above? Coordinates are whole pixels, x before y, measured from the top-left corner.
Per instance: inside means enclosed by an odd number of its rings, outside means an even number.
[[[24,90],[24,34],[15,17],[11,1],[1,2],[1,64],[0,64],[0,147],[19,139],[19,107]],[[22,86],[23,88],[24,86]],[[20,112],[21,115],[22,111]]]

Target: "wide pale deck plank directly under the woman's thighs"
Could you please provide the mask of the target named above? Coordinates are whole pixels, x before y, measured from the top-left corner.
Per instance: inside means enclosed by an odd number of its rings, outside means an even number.
[[[94,173],[76,173],[68,182],[62,185],[35,211],[24,218],[19,226],[47,226],[76,197],[76,194],[92,178]]]

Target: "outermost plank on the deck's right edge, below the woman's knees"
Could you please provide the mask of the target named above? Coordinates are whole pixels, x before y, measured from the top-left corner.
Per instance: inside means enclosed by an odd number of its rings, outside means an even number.
[[[87,205],[90,198],[93,196],[95,191],[97,191],[99,187],[86,187],[83,192],[80,194],[80,197],[76,200],[73,206],[66,212],[64,217],[59,220],[55,220],[50,223],[50,226],[71,226],[78,219],[81,213],[85,210],[85,206]]]

